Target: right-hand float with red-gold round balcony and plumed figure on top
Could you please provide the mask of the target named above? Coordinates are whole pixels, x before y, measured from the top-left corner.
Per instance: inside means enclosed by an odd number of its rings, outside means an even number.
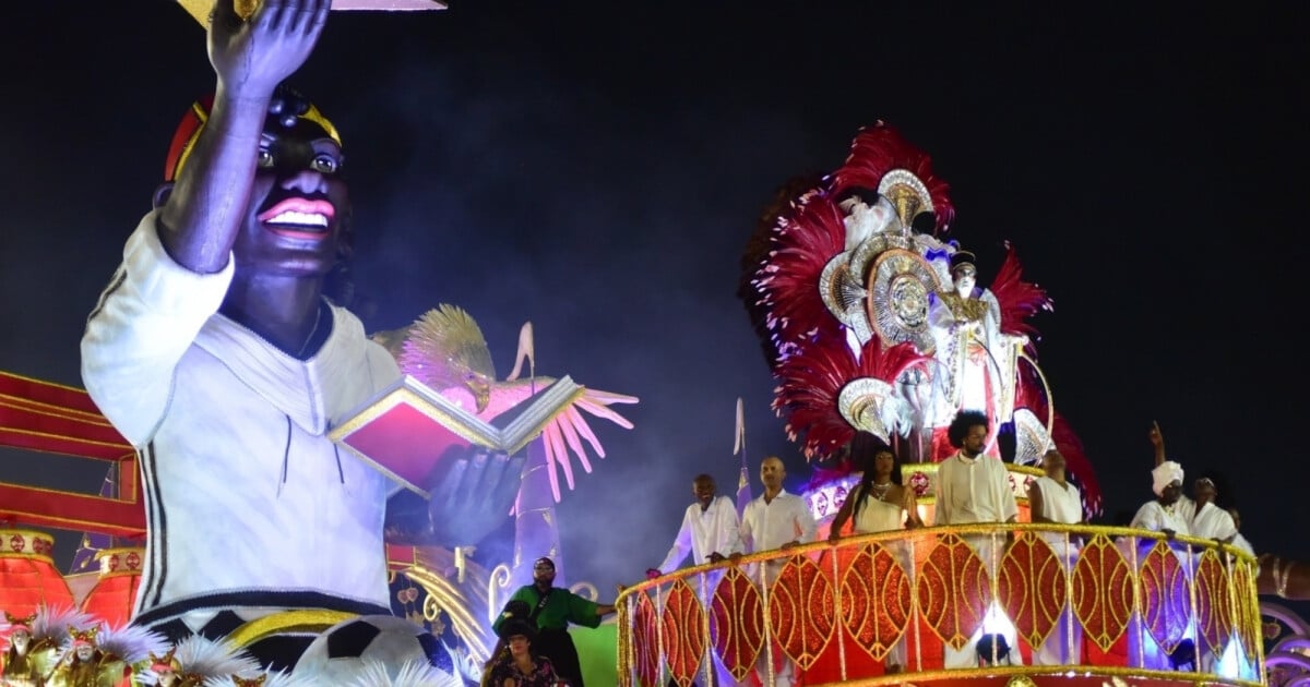
[[[1019,523],[846,537],[635,585],[616,602],[621,686],[710,684],[717,671],[772,684],[785,661],[807,687],[1269,683],[1255,559],[1212,540],[1028,522],[1026,487],[1048,449],[1065,455],[1085,517],[1100,489],[1038,364],[1030,318],[1051,300],[1011,246],[979,288],[952,217],[929,157],[883,123],[866,127],[840,169],[779,190],[747,245],[739,296],[777,379],[773,408],[815,462],[804,497],[821,542],[857,482],[844,461],[857,433],[892,446],[931,523],[960,410],[985,414],[984,453],[1005,461]],[[1280,618],[1289,671],[1275,682],[1298,683],[1303,623]],[[1076,658],[1034,665],[1048,641]],[[908,661],[888,673],[899,643]],[[943,646],[977,660],[946,670]]]

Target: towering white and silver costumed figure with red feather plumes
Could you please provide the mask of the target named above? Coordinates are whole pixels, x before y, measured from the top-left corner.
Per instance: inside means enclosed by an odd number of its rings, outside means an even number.
[[[977,410],[1015,437],[1006,459],[1068,459],[1085,508],[1100,492],[1036,366],[1028,318],[1049,309],[1013,249],[989,288],[945,234],[955,211],[930,158],[897,131],[862,130],[834,173],[791,183],[743,256],[739,296],[779,383],[774,411],[811,458],[865,431],[927,463],[954,450],[946,428]],[[992,438],[986,453],[1001,455]]]

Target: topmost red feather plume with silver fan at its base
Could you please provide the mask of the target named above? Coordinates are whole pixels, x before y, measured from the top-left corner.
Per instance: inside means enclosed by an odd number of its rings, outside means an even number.
[[[852,188],[878,191],[892,203],[905,226],[917,215],[931,212],[937,234],[946,233],[955,219],[951,187],[933,174],[933,158],[883,122],[855,135],[846,164],[832,174],[831,188],[833,196]]]

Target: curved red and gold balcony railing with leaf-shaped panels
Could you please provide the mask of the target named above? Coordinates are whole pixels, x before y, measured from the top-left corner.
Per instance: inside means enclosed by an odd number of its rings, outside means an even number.
[[[1058,551],[1058,552],[1057,552]],[[1064,555],[1061,555],[1064,554]],[[849,537],[741,556],[633,585],[618,608],[620,687],[747,680],[791,661],[804,684],[1023,683],[1027,675],[1262,684],[1254,557],[1212,540],[1087,525],[967,525]],[[993,605],[994,602],[994,605]],[[1074,665],[946,670],[993,606],[1015,656],[1083,641]],[[993,629],[988,629],[993,632]],[[903,674],[886,674],[897,641]],[[1175,669],[1191,643],[1193,660]],[[717,657],[717,658],[714,658]],[[994,658],[994,657],[993,657]]]

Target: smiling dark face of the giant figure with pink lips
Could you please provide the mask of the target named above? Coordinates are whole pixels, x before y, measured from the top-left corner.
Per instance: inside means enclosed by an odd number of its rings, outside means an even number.
[[[270,116],[245,221],[233,246],[238,275],[322,276],[342,251],[350,212],[341,147],[318,124]]]

